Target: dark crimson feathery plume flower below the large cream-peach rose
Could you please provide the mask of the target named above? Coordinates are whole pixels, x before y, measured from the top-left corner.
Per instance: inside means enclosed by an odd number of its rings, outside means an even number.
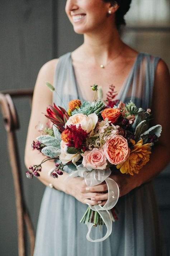
[[[70,131],[67,137],[67,147],[75,147],[77,149],[82,149],[88,136],[86,131],[81,128],[80,124],[78,128],[76,127],[76,125],[69,125],[66,129]]]

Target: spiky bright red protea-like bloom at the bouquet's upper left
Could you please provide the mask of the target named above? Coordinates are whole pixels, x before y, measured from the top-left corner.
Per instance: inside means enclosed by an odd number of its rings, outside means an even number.
[[[54,103],[54,106],[49,105],[47,108],[47,114],[45,114],[58,128],[59,131],[65,130],[65,123],[69,119],[69,115],[65,109],[62,107],[57,107]]]

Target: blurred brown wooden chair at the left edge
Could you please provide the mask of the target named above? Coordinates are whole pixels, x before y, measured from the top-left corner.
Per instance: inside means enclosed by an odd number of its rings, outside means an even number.
[[[13,103],[13,98],[27,97],[30,98],[30,100],[32,101],[32,96],[33,89],[0,91],[0,105],[3,114],[5,129],[7,132],[8,152],[15,189],[19,256],[26,255],[26,232],[28,232],[29,235],[30,253],[31,255],[33,255],[35,233],[24,198],[21,175],[22,171],[20,167],[18,144],[15,134],[15,131],[19,129],[19,119]]]

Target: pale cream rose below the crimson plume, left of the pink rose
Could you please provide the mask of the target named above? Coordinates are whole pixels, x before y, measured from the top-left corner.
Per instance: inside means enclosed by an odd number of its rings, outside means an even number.
[[[61,146],[61,154],[59,156],[60,161],[62,163],[68,163],[70,161],[72,161],[73,163],[76,163],[80,159],[81,155],[80,154],[68,154],[66,152],[66,150],[67,150],[66,144],[67,143],[64,142],[63,140],[60,143],[60,146]]]

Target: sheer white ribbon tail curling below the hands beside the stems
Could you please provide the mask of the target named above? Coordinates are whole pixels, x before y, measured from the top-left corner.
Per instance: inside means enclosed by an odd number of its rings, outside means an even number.
[[[104,235],[104,237],[93,240],[90,237],[90,232],[91,232],[91,228],[94,226],[94,223],[90,223],[90,222],[85,222],[86,225],[88,226],[88,233],[86,235],[86,238],[88,239],[88,241],[90,242],[102,242],[105,239],[107,239],[109,237],[109,235],[112,233],[112,219],[110,216],[110,212],[109,211],[97,211],[98,214],[101,216],[101,219],[104,221],[106,227],[107,227],[107,232]]]

